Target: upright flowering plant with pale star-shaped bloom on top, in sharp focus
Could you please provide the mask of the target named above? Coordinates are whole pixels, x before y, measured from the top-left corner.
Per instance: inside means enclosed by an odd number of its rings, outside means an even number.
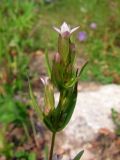
[[[40,108],[34,99],[34,95],[30,88],[30,95],[33,106],[35,107],[38,116],[40,116],[53,133],[49,160],[53,159],[53,147],[55,135],[57,132],[65,128],[73,114],[77,100],[77,85],[81,71],[85,65],[79,70],[75,69],[75,44],[71,42],[70,36],[79,27],[73,29],[63,23],[59,28],[54,27],[59,33],[58,36],[58,52],[54,55],[52,66],[50,66],[48,55],[46,54],[46,62],[49,77],[41,77],[44,85],[44,108]],[[55,106],[54,88],[57,88],[60,97],[58,105]],[[80,152],[74,159],[79,160],[83,151]]]

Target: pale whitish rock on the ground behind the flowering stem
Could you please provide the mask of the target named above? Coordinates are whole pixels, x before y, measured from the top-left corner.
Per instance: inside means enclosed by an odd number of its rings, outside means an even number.
[[[58,94],[56,98],[58,99]],[[71,121],[62,132],[62,136],[58,136],[58,144],[64,150],[70,149],[70,155],[73,157],[83,143],[88,143],[96,137],[100,128],[113,131],[111,108],[120,111],[120,85],[99,86],[92,91],[81,90]]]

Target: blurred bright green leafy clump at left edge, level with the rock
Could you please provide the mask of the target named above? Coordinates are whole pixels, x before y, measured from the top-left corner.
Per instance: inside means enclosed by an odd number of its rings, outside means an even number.
[[[28,122],[26,105],[11,96],[0,96],[0,123],[8,125],[11,122],[17,124]]]

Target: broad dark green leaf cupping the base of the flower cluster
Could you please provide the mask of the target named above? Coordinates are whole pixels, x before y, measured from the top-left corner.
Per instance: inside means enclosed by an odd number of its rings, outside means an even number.
[[[64,89],[60,92],[58,106],[50,110],[48,115],[44,116],[44,123],[52,132],[59,132],[66,127],[73,114],[76,98],[77,84],[73,88]]]

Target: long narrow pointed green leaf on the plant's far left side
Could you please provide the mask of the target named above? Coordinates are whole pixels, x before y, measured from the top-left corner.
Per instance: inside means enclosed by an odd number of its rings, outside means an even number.
[[[29,80],[29,79],[28,79]],[[34,94],[33,94],[33,91],[32,91],[32,88],[31,88],[31,85],[30,85],[30,81],[29,81],[29,94],[30,94],[30,98],[32,100],[32,105],[38,115],[39,118],[43,119],[43,113],[42,113],[42,110],[40,109],[40,107],[38,106],[36,100],[35,100],[35,97],[34,97]]]

